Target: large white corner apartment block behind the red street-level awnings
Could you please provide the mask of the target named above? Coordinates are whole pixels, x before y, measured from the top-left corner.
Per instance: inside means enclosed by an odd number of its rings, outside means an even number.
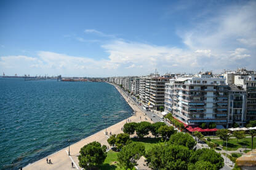
[[[172,111],[175,118],[188,125],[215,122],[226,126],[228,85],[210,72],[171,79],[166,83],[164,106],[166,112]]]

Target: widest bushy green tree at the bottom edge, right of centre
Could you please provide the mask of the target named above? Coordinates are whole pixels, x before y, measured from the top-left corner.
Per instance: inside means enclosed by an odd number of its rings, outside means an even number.
[[[155,145],[146,153],[146,163],[152,169],[187,169],[191,151],[182,145]]]

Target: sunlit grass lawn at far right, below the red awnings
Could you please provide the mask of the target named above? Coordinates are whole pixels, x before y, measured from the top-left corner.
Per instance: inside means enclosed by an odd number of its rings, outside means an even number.
[[[217,142],[219,145],[223,145],[223,141],[221,139],[212,139],[211,142]],[[244,146],[247,146],[247,148],[251,148],[252,144],[252,138],[251,137],[246,137],[244,139],[230,139],[228,141],[228,150],[237,150],[239,148],[242,148]],[[223,150],[226,150],[226,142],[223,145]],[[256,148],[256,137],[254,138],[254,149]]]

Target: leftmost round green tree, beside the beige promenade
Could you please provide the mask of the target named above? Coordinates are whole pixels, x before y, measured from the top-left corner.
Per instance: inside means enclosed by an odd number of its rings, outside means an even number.
[[[102,164],[106,158],[106,146],[99,142],[91,142],[80,150],[78,156],[79,166],[84,169],[91,169]]]

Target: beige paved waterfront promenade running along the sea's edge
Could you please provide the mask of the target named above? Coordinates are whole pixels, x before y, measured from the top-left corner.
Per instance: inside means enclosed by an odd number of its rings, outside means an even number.
[[[116,87],[116,86],[114,86]],[[128,99],[124,93],[121,92],[121,90],[116,87],[116,89],[119,91],[119,93],[126,99],[130,107],[134,110],[134,115],[132,117],[129,117],[128,119],[132,122],[142,122],[145,121],[145,116],[143,115],[142,111],[138,108],[136,104],[132,102],[131,99]],[[150,122],[150,118],[147,117],[147,121]],[[112,134],[118,134],[122,133],[121,128],[126,123],[126,120],[122,120],[119,123],[116,123],[113,126],[110,126],[107,128],[108,134],[110,132]],[[79,160],[78,155],[81,147],[84,145],[97,141],[100,142],[102,145],[108,145],[108,142],[106,141],[109,136],[105,135],[105,129],[102,129],[98,133],[93,134],[92,136],[86,137],[85,139],[82,139],[79,142],[76,142],[75,144],[70,145],[70,156],[68,156],[68,147],[53,153],[52,155],[46,156],[45,158],[42,158],[41,160],[38,160],[34,163],[28,164],[23,169],[82,169],[79,167]],[[48,160],[50,159],[52,161],[52,164],[46,163],[46,158]],[[71,163],[74,163],[74,168],[71,168]]]

